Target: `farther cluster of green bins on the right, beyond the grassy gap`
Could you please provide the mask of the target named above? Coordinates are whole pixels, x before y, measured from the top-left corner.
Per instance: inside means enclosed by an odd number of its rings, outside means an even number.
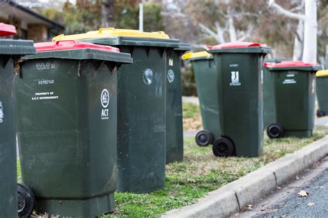
[[[212,145],[216,156],[258,156],[263,129],[269,138],[313,135],[316,90],[319,107],[327,103],[327,71],[319,71],[316,80],[317,64],[264,61],[270,51],[263,44],[236,42],[206,50],[183,55],[197,83],[204,128],[195,138],[199,146]]]

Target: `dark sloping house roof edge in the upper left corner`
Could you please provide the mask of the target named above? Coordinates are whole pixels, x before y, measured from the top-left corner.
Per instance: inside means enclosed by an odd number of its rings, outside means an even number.
[[[9,12],[11,15],[14,14],[22,20],[29,20],[33,23],[42,23],[47,26],[51,26],[53,28],[59,28],[61,30],[65,29],[65,26],[62,24],[48,19],[42,15],[39,15],[37,12],[30,10],[28,8],[24,8],[20,6],[18,3],[15,3],[12,0],[0,0],[0,10],[2,12]]]

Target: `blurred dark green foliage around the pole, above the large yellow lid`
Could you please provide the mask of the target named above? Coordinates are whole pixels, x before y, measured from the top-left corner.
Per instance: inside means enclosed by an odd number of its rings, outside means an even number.
[[[64,34],[85,33],[102,27],[138,29],[139,1],[78,0],[66,1],[62,8],[44,8],[42,15],[66,26]],[[164,30],[161,3],[145,2],[144,30]]]

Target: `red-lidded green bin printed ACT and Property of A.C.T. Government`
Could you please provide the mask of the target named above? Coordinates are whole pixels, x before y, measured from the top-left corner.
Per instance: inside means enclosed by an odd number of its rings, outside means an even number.
[[[97,217],[114,210],[118,48],[35,44],[15,78],[21,178],[36,212]]]

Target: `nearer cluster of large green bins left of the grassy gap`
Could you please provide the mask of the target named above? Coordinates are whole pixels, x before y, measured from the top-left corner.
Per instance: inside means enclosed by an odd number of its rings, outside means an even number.
[[[0,178],[11,189],[0,202],[10,212],[0,215],[17,216],[18,204],[21,217],[34,208],[97,217],[113,211],[115,191],[163,188],[165,163],[183,158],[180,56],[190,45],[163,32],[114,28],[25,43],[31,51],[20,55],[37,53],[1,58],[10,60],[0,75],[11,82],[0,80],[10,86],[1,85],[0,127],[11,135],[8,145],[1,135],[1,148],[10,149],[1,167],[10,168]],[[18,203],[15,134],[24,183]]]

